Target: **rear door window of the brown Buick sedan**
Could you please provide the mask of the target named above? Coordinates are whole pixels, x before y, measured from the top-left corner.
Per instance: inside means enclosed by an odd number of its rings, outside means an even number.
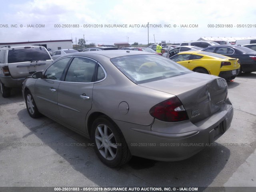
[[[90,83],[95,80],[95,69],[97,63],[88,58],[76,57],[68,68],[66,82]]]

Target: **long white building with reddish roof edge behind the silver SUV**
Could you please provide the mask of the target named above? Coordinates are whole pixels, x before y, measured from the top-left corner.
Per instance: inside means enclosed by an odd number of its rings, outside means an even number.
[[[0,43],[0,47],[4,46],[28,46],[28,45],[42,45],[46,49],[50,48],[52,52],[60,49],[73,49],[72,40],[49,40],[49,41],[28,41],[28,42],[12,42]]]

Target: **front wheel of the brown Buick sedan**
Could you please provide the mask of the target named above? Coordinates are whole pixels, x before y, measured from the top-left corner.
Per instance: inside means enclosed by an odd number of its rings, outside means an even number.
[[[25,92],[25,102],[26,102],[26,107],[27,107],[28,114],[30,115],[30,117],[38,118],[41,116],[40,112],[38,111],[38,109],[36,107],[35,100],[34,100],[32,94],[30,93],[30,91]]]

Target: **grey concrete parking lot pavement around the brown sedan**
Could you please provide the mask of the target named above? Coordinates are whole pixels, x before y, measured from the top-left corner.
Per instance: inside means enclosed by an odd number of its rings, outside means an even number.
[[[32,119],[21,89],[0,96],[0,186],[256,186],[256,73],[228,82],[230,129],[180,162],[133,157],[108,168],[90,140],[46,117]]]

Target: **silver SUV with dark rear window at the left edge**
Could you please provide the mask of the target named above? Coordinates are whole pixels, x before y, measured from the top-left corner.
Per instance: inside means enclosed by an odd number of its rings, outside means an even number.
[[[22,87],[26,77],[44,71],[53,62],[44,46],[8,46],[0,48],[0,90],[10,96],[12,87]]]

